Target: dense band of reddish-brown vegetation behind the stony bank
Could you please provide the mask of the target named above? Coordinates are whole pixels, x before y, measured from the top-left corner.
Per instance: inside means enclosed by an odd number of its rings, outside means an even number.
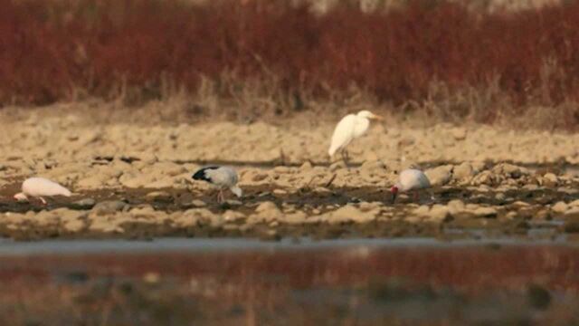
[[[484,88],[498,78],[518,104],[579,98],[579,2],[538,11],[474,14],[413,1],[365,14],[311,14],[279,1],[0,0],[0,103],[109,98],[124,87],[156,98],[195,91],[204,75],[267,74],[285,91],[343,90],[422,100],[432,81]],[[225,94],[226,95],[226,94]]]

